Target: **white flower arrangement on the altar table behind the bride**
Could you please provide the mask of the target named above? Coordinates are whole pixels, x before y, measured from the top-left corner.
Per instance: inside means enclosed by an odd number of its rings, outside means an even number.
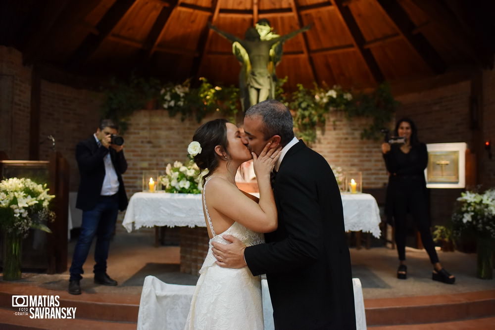
[[[204,174],[193,161],[187,165],[175,161],[173,166],[167,164],[165,175],[160,176],[159,181],[165,192],[201,193],[201,178]]]

